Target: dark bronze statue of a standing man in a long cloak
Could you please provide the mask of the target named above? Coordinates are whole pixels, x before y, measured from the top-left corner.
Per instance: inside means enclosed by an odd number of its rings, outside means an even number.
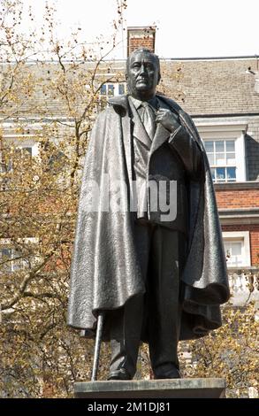
[[[94,335],[104,312],[110,380],[133,378],[141,341],[156,379],[179,378],[179,339],[220,327],[229,297],[217,205],[192,119],[156,95],[157,56],[135,50],[126,80],[88,147],[68,324]]]

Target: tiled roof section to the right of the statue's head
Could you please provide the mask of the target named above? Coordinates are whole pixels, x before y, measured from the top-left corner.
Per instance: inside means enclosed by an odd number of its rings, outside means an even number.
[[[259,113],[257,58],[166,60],[162,63],[163,78],[177,68],[180,98],[184,100],[181,105],[192,115]],[[176,82],[171,81],[171,86]]]

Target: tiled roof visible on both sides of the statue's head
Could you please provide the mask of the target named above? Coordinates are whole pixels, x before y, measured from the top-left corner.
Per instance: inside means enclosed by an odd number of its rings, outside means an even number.
[[[66,64],[69,66],[69,64]],[[87,62],[78,67],[80,77],[93,72],[93,63]],[[126,62],[104,62],[103,71],[124,73]],[[32,95],[20,96],[22,112],[37,117],[42,110],[48,117],[67,115],[58,94],[46,89],[46,85],[60,76],[57,64],[27,65],[27,71],[34,73],[38,79]],[[249,68],[249,69],[248,69]],[[70,76],[73,77],[71,71]],[[185,111],[193,116],[224,114],[259,114],[259,94],[255,93],[255,77],[258,75],[257,58],[213,58],[213,59],[162,59],[162,85],[167,96],[174,98]],[[177,74],[177,76],[176,76]],[[123,75],[120,75],[120,77]],[[121,78],[120,78],[121,79]],[[82,83],[83,84],[83,83]],[[162,90],[163,92],[163,90]],[[81,104],[87,100],[87,89],[83,88],[79,97]],[[13,109],[14,110],[14,109]],[[19,109],[20,110],[20,109]]]

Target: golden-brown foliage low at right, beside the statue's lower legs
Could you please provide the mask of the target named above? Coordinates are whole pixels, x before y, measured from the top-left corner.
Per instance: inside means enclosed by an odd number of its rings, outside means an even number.
[[[258,389],[259,349],[255,305],[226,305],[223,326],[189,343],[193,363],[186,366],[190,377],[223,377],[227,397],[248,397],[248,388]]]

